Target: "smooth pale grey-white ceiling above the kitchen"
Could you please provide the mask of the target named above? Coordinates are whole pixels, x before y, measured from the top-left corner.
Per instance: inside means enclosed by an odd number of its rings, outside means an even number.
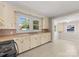
[[[79,1],[8,1],[15,6],[24,6],[43,16],[56,17],[79,10]]]

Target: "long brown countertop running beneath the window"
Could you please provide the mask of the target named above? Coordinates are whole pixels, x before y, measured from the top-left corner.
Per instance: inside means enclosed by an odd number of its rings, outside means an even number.
[[[0,41],[12,40],[17,36],[24,36],[24,35],[36,35],[41,33],[50,33],[50,32],[30,32],[30,33],[16,33],[11,35],[0,35]]]

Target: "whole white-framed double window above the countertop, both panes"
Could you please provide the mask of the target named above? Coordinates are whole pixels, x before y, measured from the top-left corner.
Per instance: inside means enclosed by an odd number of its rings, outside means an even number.
[[[33,31],[39,31],[39,19],[35,17],[28,17],[24,14],[18,14],[17,15],[17,21],[16,21],[16,32],[17,33],[23,33],[23,32],[33,32]]]

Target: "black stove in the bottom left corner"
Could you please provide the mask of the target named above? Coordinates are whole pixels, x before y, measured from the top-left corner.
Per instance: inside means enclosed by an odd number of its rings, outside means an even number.
[[[16,57],[16,42],[14,40],[0,42],[0,57]]]

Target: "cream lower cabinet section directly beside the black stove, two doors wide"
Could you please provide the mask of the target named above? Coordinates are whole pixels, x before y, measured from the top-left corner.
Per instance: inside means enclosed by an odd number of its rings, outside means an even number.
[[[30,40],[26,37],[18,37],[14,39],[18,45],[18,52],[22,53],[30,49]]]

